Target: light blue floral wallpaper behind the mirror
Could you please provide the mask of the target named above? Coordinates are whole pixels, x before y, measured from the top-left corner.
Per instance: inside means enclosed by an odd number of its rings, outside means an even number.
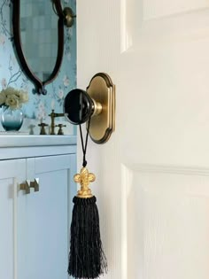
[[[15,1],[15,0],[14,0]],[[50,0],[49,0],[50,1]],[[64,0],[76,12],[76,0]],[[12,0],[0,0],[0,90],[11,86],[24,89],[29,101],[24,105],[27,118],[45,120],[51,109],[62,112],[64,97],[76,86],[76,27],[65,27],[65,53],[58,77],[46,86],[47,95],[33,94],[33,83],[22,72],[12,40]]]

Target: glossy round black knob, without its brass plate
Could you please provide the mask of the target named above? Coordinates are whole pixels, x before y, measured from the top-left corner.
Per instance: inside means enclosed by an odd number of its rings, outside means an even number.
[[[86,122],[94,110],[94,101],[84,90],[73,89],[66,95],[64,112],[72,124],[79,125]]]

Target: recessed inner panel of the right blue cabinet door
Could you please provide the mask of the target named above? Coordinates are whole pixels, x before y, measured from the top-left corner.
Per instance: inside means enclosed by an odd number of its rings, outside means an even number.
[[[27,203],[28,278],[66,278],[67,171],[38,174]]]

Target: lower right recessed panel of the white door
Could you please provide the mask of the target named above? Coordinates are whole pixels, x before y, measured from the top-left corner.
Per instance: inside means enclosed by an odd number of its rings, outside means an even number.
[[[129,177],[123,201],[127,208],[127,276],[207,278],[209,170],[204,175],[195,168],[166,166],[123,171]]]

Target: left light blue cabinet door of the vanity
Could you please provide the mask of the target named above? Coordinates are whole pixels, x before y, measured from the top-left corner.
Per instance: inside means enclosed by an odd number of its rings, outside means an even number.
[[[25,159],[0,161],[0,278],[17,278],[17,187],[25,177]]]

